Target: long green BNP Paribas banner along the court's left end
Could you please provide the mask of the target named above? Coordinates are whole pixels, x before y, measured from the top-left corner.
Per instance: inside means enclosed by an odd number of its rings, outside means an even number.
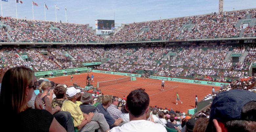
[[[82,68],[73,68],[73,69],[60,69],[60,70],[51,70],[51,71],[40,71],[40,72],[35,72],[35,76],[44,76],[44,75],[49,75],[53,72],[53,75],[59,74],[59,73],[63,73],[65,71],[67,72],[72,72],[72,71],[87,71],[87,67],[82,67]]]

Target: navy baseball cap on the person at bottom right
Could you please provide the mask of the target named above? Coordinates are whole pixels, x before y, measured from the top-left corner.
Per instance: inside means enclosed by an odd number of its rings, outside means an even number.
[[[256,94],[247,90],[229,90],[221,92],[213,99],[209,122],[216,119],[220,122],[232,120],[246,120],[243,118],[243,106],[251,101],[256,101]]]

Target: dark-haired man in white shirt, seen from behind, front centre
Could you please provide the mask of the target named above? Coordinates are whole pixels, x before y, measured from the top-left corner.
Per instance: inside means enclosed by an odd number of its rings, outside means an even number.
[[[149,95],[144,89],[132,91],[127,96],[125,105],[129,111],[130,122],[121,127],[114,127],[110,132],[167,132],[163,125],[146,120],[146,113],[149,110]]]

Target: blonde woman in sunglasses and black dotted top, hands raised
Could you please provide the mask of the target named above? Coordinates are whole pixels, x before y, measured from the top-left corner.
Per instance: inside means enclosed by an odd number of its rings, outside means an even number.
[[[28,101],[32,98],[36,85],[34,73],[28,67],[16,66],[6,71],[0,94],[0,106],[3,108],[0,112],[3,113],[2,119],[5,119],[5,122],[1,123],[2,129],[20,132],[66,131],[50,112],[42,110],[41,94],[36,96],[35,109],[28,107]],[[48,98],[45,106],[51,107]]]

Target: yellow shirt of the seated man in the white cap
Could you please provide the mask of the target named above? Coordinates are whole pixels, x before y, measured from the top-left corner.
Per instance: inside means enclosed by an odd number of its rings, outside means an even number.
[[[84,115],[79,106],[70,100],[65,100],[61,107],[62,111],[68,111],[74,119],[74,126],[79,126],[84,119]]]

